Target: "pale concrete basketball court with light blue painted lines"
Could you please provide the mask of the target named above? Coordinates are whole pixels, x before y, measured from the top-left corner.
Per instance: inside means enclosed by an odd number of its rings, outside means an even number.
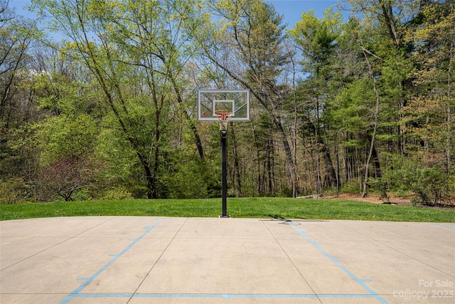
[[[0,222],[0,303],[455,303],[455,224]]]

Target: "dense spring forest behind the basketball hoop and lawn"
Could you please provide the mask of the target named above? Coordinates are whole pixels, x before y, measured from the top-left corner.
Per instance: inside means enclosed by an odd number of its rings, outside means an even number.
[[[0,202],[221,195],[196,90],[250,89],[230,196],[455,204],[455,1],[0,0]],[[63,37],[54,39],[53,37]]]

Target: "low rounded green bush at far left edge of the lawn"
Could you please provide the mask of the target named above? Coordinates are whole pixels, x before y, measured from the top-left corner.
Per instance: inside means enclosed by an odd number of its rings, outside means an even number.
[[[1,204],[24,204],[30,200],[29,187],[22,179],[0,179],[0,205]]]

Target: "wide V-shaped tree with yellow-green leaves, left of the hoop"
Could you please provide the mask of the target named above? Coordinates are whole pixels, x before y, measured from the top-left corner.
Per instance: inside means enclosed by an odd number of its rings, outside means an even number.
[[[159,197],[168,122],[173,111],[180,110],[174,100],[182,104],[178,75],[186,38],[181,24],[191,5],[168,0],[33,3],[40,14],[52,18],[50,28],[70,38],[65,52],[95,76],[109,115],[143,169],[148,197]],[[197,133],[195,138],[197,142]],[[198,151],[202,157],[200,145]]]

